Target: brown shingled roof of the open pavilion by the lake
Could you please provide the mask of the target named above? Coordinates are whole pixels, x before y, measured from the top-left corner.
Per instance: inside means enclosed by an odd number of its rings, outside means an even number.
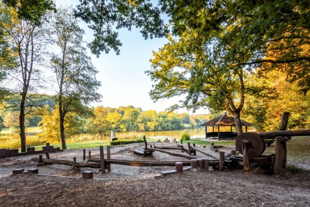
[[[243,120],[241,120],[241,125],[253,126],[253,124]],[[211,119],[210,121],[207,121],[200,126],[236,126],[236,124],[234,117],[227,115],[227,113],[225,112],[223,115],[215,117],[214,119]]]

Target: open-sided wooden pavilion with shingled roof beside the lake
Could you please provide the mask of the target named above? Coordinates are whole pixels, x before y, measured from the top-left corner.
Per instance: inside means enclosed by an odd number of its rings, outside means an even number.
[[[253,124],[244,120],[241,120],[241,125],[245,126],[246,132],[248,131],[248,126],[253,126]],[[210,121],[207,121],[200,126],[206,127],[206,139],[208,139],[208,137],[217,136],[218,140],[227,140],[235,139],[238,136],[237,132],[232,132],[232,126],[236,127],[235,119],[234,117],[227,115],[226,112],[224,112],[223,115],[215,117],[214,119],[211,119]],[[208,132],[208,126],[212,126],[212,132]],[[230,126],[230,132],[220,132],[220,126]],[[214,132],[214,127],[217,127],[217,132]]]

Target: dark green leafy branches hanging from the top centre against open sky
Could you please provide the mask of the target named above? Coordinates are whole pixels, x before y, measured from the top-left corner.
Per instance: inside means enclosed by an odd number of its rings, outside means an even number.
[[[118,39],[120,28],[140,27],[144,38],[163,37],[167,26],[161,19],[159,8],[152,8],[150,0],[146,1],[107,1],[80,0],[75,16],[90,24],[94,31],[94,40],[88,44],[97,57],[102,51],[108,53],[113,49],[120,53],[122,43]]]

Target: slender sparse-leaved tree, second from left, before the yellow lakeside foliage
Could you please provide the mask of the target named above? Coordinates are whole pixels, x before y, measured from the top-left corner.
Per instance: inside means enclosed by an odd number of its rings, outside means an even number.
[[[59,126],[62,148],[66,149],[65,116],[68,112],[83,114],[87,112],[83,105],[98,101],[97,93],[101,85],[95,79],[98,71],[91,63],[91,58],[83,47],[83,29],[79,27],[71,9],[59,8],[53,16],[54,38],[59,53],[53,53],[51,66],[56,75],[59,91]]]

